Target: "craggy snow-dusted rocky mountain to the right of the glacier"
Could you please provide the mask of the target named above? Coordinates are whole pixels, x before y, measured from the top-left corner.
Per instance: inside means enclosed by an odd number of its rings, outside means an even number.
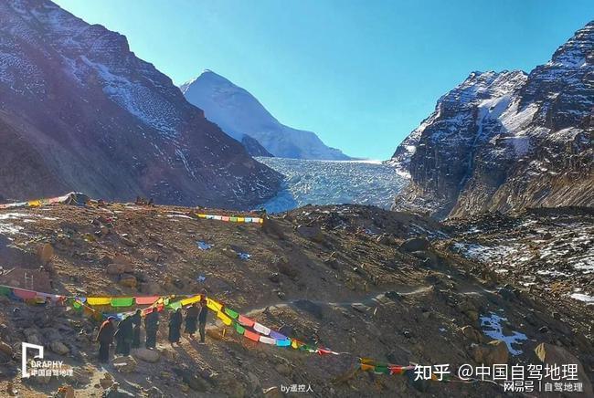
[[[545,65],[473,72],[392,157],[410,183],[396,208],[438,217],[594,205],[594,22]]]

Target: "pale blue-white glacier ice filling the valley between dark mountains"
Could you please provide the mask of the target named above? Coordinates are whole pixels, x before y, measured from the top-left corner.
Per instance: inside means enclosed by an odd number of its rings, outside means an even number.
[[[368,204],[388,209],[407,179],[389,164],[256,158],[285,175],[284,189],[262,204],[280,213],[304,204]]]

